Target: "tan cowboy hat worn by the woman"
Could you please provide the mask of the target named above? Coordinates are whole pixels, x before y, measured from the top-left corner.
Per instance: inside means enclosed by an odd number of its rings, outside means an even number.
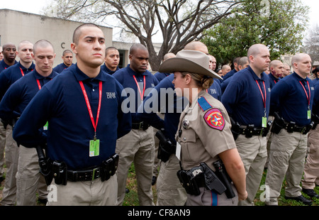
[[[192,72],[208,77],[223,79],[208,69],[209,57],[198,50],[181,50],[176,57],[169,58],[159,66],[159,72]]]

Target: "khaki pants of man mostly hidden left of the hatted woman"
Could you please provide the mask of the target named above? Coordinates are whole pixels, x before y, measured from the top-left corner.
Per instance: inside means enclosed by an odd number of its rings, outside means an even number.
[[[167,162],[161,162],[157,177],[157,206],[184,206],[187,194],[177,177],[181,170],[176,155],[171,155]]]

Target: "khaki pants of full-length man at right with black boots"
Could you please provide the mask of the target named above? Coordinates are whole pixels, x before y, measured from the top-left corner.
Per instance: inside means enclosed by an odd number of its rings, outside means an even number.
[[[300,182],[307,150],[307,135],[298,132],[288,133],[286,129],[281,129],[278,134],[272,135],[265,181],[269,189],[269,197],[266,199],[268,205],[278,204],[277,198],[285,176],[286,197],[301,195]]]

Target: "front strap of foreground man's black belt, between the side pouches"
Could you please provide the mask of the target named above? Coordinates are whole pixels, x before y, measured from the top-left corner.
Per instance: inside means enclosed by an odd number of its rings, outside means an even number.
[[[92,170],[67,170],[67,180],[72,182],[96,180],[100,177],[101,168],[96,167]]]

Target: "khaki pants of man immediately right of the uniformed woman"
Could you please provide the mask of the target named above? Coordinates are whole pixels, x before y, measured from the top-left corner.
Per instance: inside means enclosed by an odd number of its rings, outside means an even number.
[[[247,199],[238,202],[238,205],[253,205],[267,160],[267,138],[262,136],[246,138],[244,135],[239,135],[235,143],[245,167],[246,191],[248,194]]]

